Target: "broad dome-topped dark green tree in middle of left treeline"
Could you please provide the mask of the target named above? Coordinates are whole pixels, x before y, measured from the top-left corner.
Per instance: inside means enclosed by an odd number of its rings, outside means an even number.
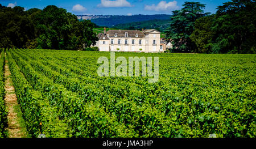
[[[47,6],[35,16],[38,46],[43,49],[66,49],[72,31],[72,15],[63,8]]]

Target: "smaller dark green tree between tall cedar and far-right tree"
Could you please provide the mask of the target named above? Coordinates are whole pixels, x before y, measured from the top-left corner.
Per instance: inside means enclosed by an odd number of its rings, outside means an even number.
[[[209,43],[214,36],[213,25],[214,15],[204,16],[199,18],[195,22],[195,29],[190,36],[192,42],[195,43],[195,49],[192,52],[195,53],[211,53],[209,49]]]

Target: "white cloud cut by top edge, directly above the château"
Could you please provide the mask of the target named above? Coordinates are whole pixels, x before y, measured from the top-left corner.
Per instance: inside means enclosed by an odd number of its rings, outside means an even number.
[[[126,0],[101,0],[101,3],[98,4],[97,7],[133,7],[133,5]]]

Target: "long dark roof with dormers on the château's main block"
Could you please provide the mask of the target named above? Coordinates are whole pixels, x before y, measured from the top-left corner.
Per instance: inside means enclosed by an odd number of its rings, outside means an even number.
[[[115,33],[117,33],[117,37],[125,37],[125,33],[128,33],[128,37],[135,37],[136,34],[138,33],[137,38],[143,38],[145,37],[144,33],[138,30],[109,30],[106,32],[106,34],[109,34],[109,37],[115,37]]]

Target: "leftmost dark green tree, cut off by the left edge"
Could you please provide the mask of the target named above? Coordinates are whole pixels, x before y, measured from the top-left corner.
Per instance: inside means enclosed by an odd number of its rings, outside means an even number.
[[[24,14],[23,7],[0,9],[0,48],[23,48],[35,37],[32,21]]]

